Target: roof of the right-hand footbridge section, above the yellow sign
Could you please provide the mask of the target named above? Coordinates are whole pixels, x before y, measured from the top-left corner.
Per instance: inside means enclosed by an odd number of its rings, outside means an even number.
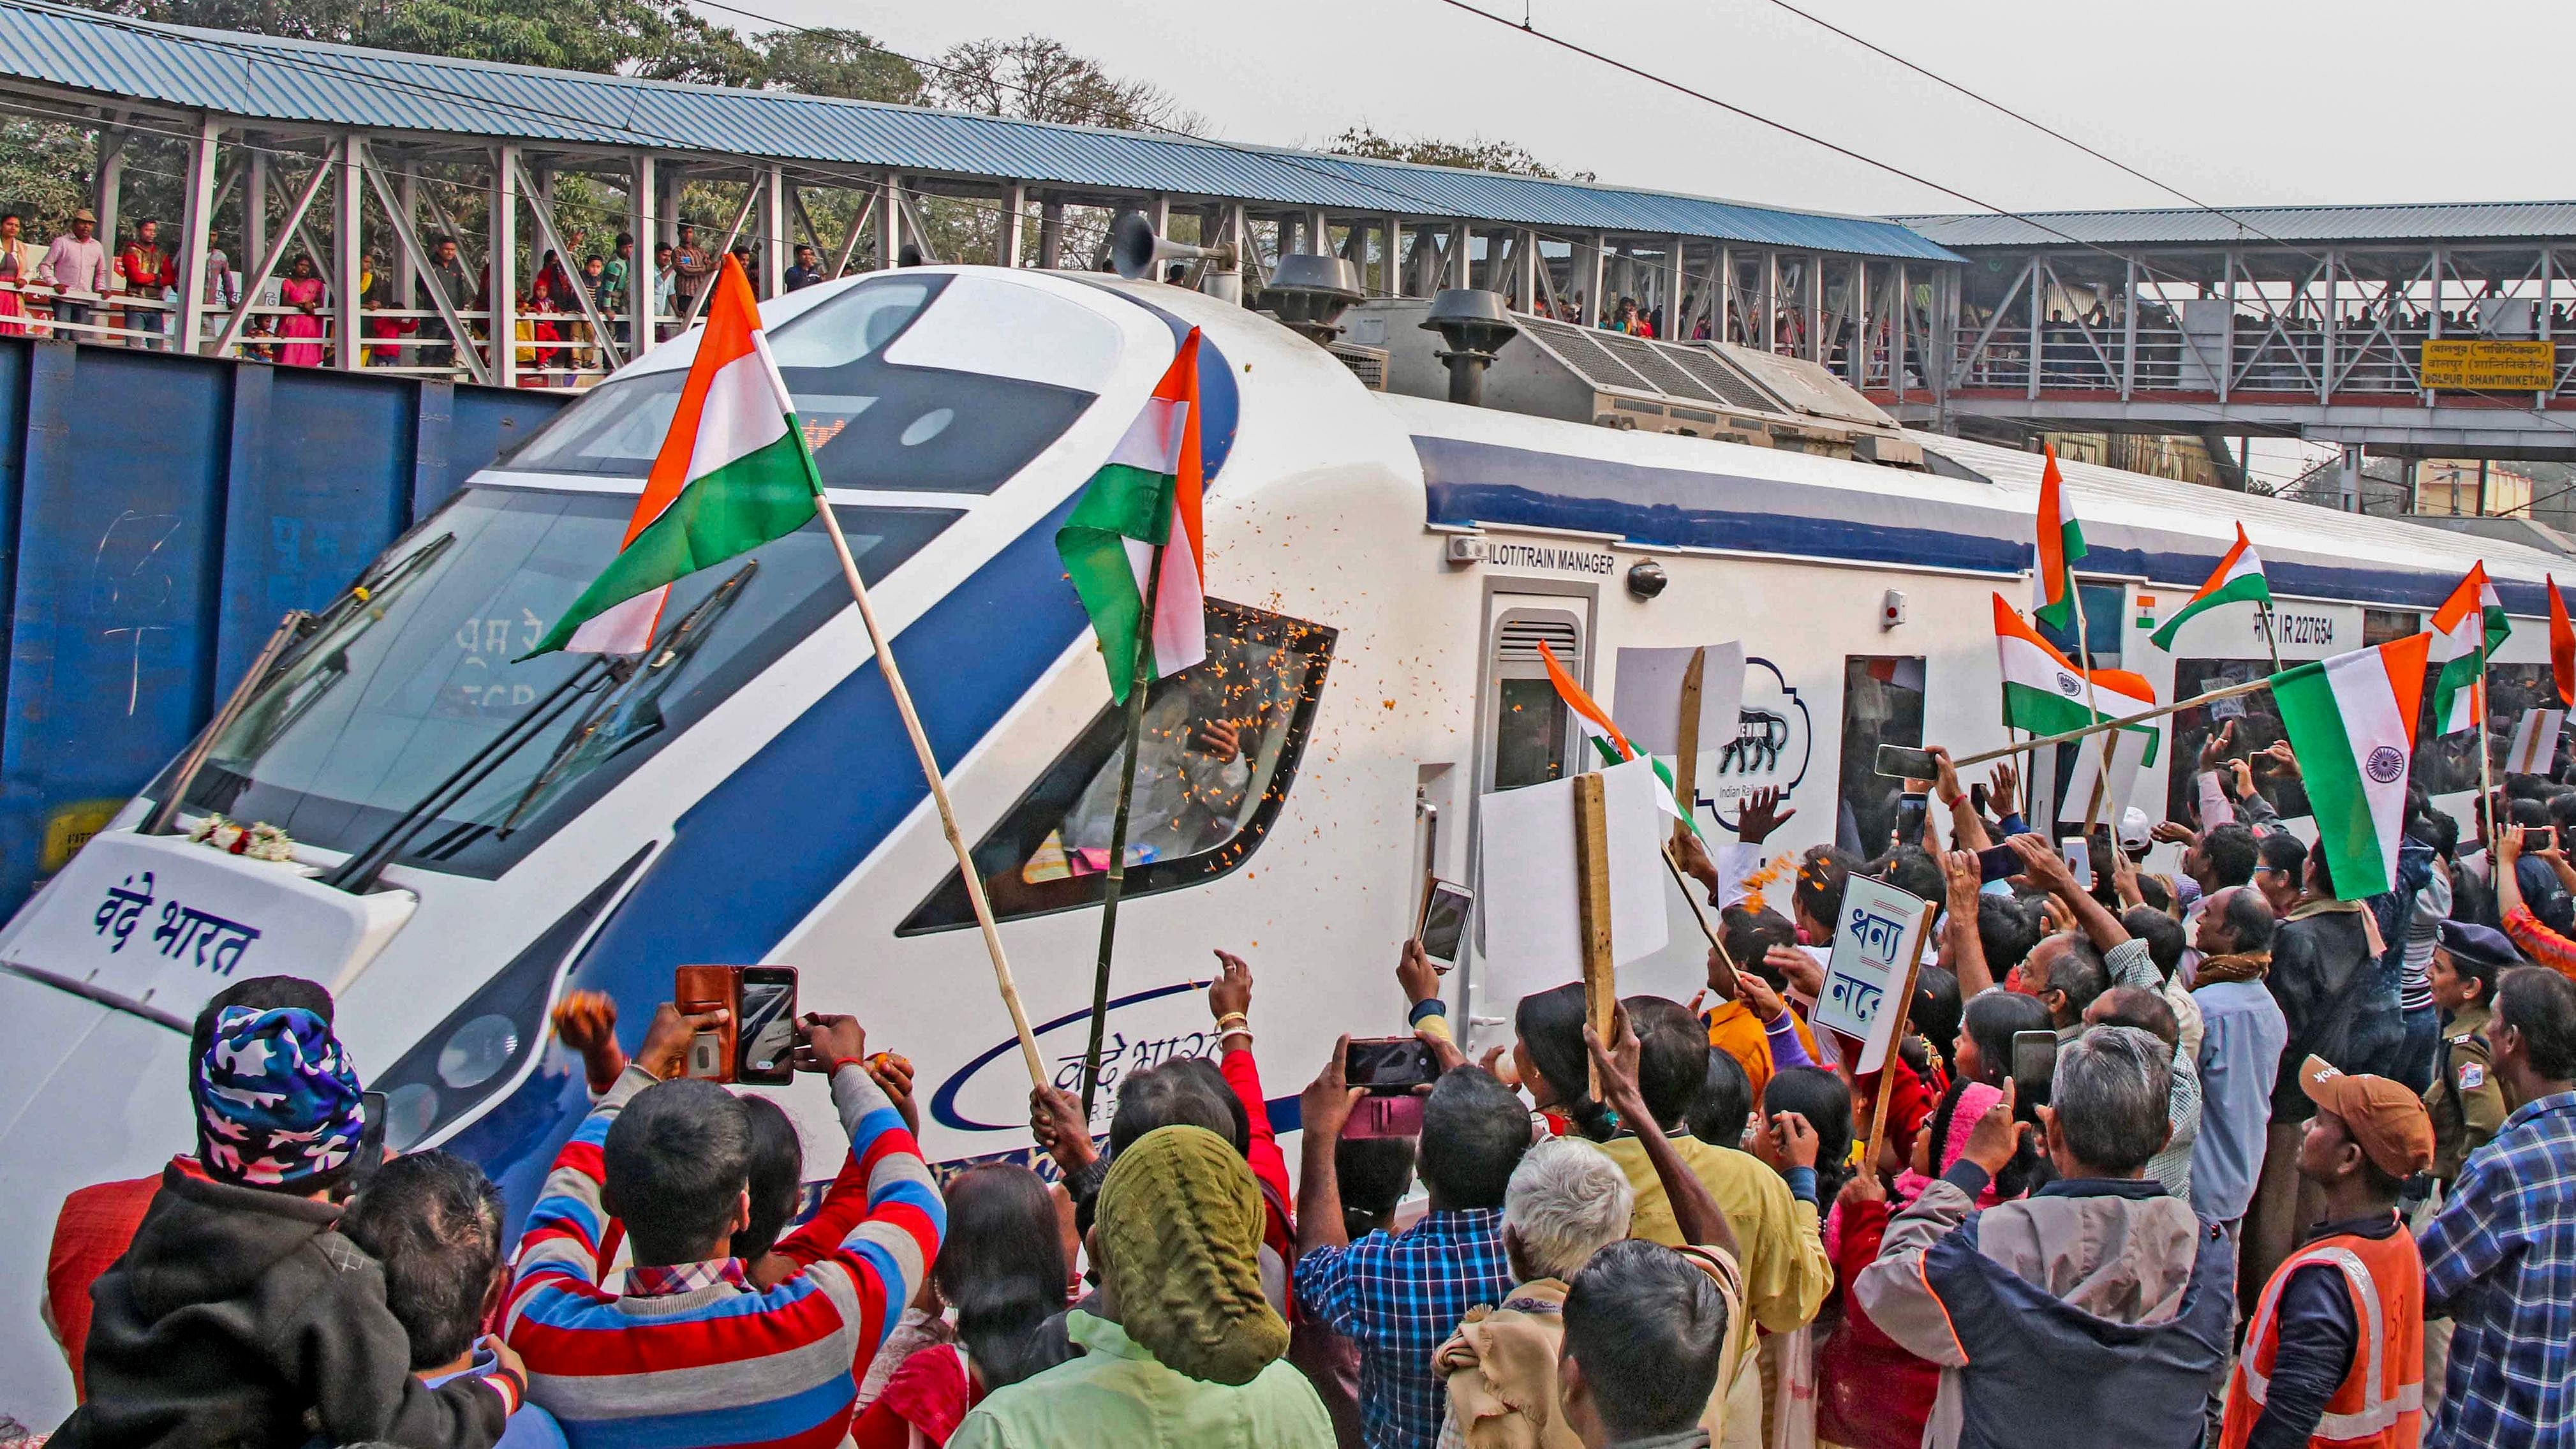
[[[2576,201],[2442,201],[2383,206],[2190,206],[1899,217],[1945,248],[2264,245],[2264,242],[2524,242],[2576,237]]]

